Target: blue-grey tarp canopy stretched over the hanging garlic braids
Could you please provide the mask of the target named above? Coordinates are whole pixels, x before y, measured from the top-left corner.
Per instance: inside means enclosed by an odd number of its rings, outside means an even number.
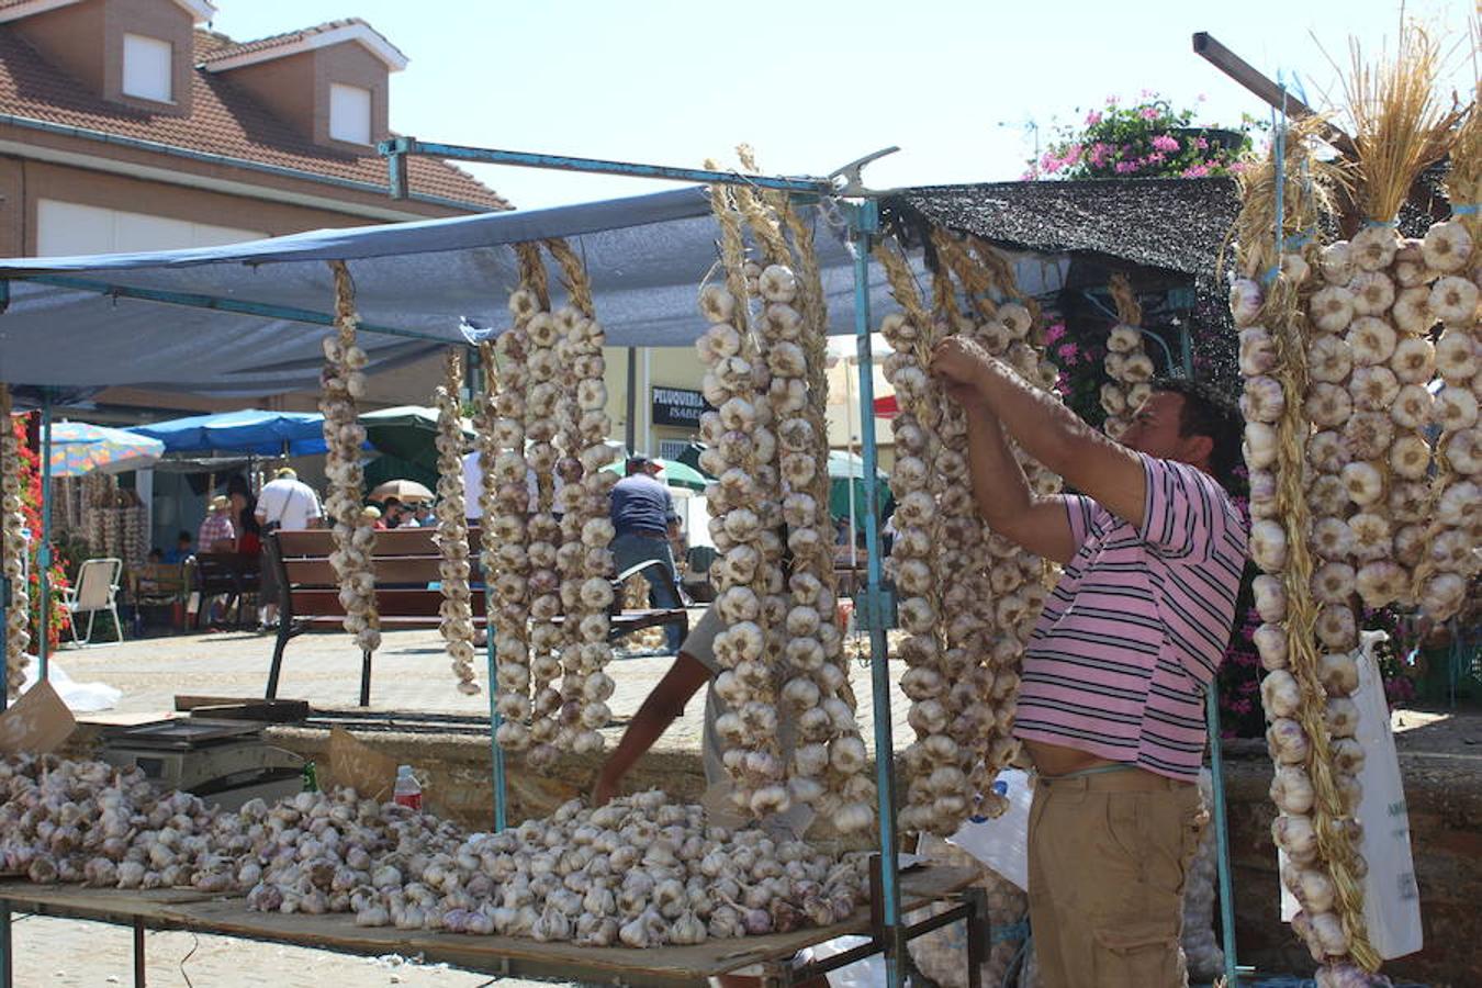
[[[814,224],[831,332],[854,332],[854,274],[831,204],[805,207]],[[695,293],[717,277],[717,228],[701,188],[628,198],[430,219],[258,240],[222,247],[0,261],[9,301],[0,314],[0,381],[50,387],[132,385],[261,395],[317,390],[328,326],[222,305],[329,314],[345,261],[366,327],[372,370],[462,341],[461,324],[499,332],[519,283],[510,244],[565,237],[591,277],[614,347],[689,345],[704,329]],[[1064,264],[1021,265],[1021,286],[1054,290]],[[871,265],[871,305],[886,301]],[[551,268],[551,283],[559,271]],[[0,283],[3,284],[3,283]],[[205,307],[138,298],[191,295]]]

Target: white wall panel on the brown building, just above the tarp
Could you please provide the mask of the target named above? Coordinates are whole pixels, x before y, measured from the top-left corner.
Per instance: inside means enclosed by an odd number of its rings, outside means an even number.
[[[213,227],[55,198],[41,198],[36,204],[36,253],[43,258],[213,247],[265,236],[256,230]]]

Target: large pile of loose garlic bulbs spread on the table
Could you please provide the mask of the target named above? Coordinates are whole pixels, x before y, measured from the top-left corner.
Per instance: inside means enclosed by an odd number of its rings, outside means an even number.
[[[854,915],[867,856],[707,827],[659,791],[501,834],[353,790],[240,812],[101,761],[0,760],[0,865],[37,883],[245,893],[250,909],[579,945],[698,944]]]

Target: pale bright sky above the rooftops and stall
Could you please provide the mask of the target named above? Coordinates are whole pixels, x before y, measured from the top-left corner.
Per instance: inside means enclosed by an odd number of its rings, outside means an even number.
[[[1208,31],[1313,105],[1341,95],[1332,62],[1393,49],[1380,0],[215,0],[212,27],[250,40],[366,19],[408,55],[391,76],[391,129],[513,151],[701,166],[756,148],[762,170],[870,164],[871,188],[1018,178],[1026,160],[1109,96],[1143,90],[1205,124],[1269,108],[1193,53]],[[1409,0],[1439,27],[1463,89],[1470,0]],[[1458,43],[1460,41],[1460,43]],[[531,209],[636,196],[664,184],[470,166]]]

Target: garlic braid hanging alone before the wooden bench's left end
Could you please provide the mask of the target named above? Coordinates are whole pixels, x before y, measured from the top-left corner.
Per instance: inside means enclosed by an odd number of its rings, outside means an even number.
[[[356,637],[363,652],[381,647],[381,615],[375,601],[375,570],[370,564],[375,530],[360,511],[365,473],[360,447],[366,430],[356,418],[356,400],[365,397],[366,351],[356,345],[354,289],[342,261],[332,261],[335,273],[335,335],[325,338],[323,394],[319,410],[325,415],[325,477],[329,493],[325,515],[333,526],[335,551],[329,561],[339,578],[339,603],[345,609],[345,631]]]

